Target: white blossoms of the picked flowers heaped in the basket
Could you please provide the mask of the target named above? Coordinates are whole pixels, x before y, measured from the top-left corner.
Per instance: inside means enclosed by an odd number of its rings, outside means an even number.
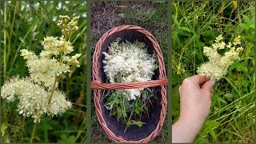
[[[148,54],[143,42],[120,42],[118,38],[103,52],[104,72],[110,83],[143,82],[151,80],[158,68],[156,54]],[[128,100],[141,96],[143,89],[124,90]]]

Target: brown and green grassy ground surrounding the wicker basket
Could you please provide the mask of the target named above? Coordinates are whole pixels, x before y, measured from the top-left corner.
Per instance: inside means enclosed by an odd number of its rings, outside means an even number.
[[[149,30],[158,41],[167,66],[167,2],[92,2],[92,54],[98,39],[115,26],[135,25]],[[93,94],[92,94],[93,96]],[[111,142],[98,123],[92,97],[91,142]],[[167,124],[153,142],[166,142]]]

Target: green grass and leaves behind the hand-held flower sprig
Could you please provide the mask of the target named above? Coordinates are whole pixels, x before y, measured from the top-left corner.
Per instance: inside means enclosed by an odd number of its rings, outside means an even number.
[[[254,142],[255,2],[172,3],[172,118],[179,117],[178,87],[208,61],[203,46],[222,34],[226,42],[242,36],[240,60],[214,86],[209,117],[194,142]]]

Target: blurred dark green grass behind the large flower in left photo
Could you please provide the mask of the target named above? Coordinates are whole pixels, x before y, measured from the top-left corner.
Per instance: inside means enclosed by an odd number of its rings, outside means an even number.
[[[43,117],[35,130],[34,142],[86,142],[86,2],[1,1],[1,86],[19,75],[28,75],[20,50],[38,54],[46,36],[61,36],[58,16],[78,16],[79,30],[70,39],[74,52],[82,54],[80,67],[62,79],[60,90],[73,102],[62,116]],[[30,142],[34,122],[18,114],[17,102],[1,100],[2,142]]]

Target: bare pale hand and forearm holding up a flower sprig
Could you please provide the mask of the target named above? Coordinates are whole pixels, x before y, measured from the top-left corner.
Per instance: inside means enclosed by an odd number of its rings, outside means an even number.
[[[180,117],[172,126],[173,143],[191,143],[210,112],[215,80],[194,75],[179,87]]]

